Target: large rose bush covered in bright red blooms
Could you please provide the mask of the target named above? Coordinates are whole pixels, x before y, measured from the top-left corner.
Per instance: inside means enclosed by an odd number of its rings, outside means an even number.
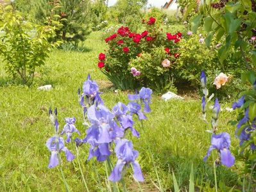
[[[98,67],[121,90],[143,85],[162,91],[170,86],[182,33],[164,33],[155,17],[142,23],[142,33],[122,26],[105,38],[108,49],[99,54]]]

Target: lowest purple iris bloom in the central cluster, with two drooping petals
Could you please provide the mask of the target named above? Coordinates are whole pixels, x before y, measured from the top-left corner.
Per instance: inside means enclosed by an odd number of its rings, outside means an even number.
[[[121,179],[122,170],[124,166],[128,166],[130,163],[133,166],[133,177],[138,181],[144,181],[144,177],[141,172],[141,166],[137,161],[139,152],[133,150],[132,142],[126,139],[117,140],[115,145],[115,154],[118,158],[117,164],[109,176],[109,180],[117,182]]]

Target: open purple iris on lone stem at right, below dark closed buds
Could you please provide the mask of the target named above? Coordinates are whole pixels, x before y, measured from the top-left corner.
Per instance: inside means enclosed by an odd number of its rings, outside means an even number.
[[[235,163],[235,157],[229,150],[230,135],[227,132],[222,132],[221,134],[212,134],[211,144],[212,145],[210,145],[207,155],[203,158],[203,161],[206,161],[212,150],[217,149],[220,153],[221,164],[224,164],[227,167],[233,166]]]

